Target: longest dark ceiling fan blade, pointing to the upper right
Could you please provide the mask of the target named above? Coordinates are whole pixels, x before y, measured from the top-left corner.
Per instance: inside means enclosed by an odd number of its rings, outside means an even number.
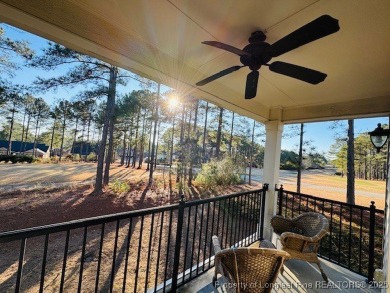
[[[280,56],[307,43],[333,34],[339,29],[340,26],[337,19],[329,15],[322,15],[273,43],[270,47],[271,56]]]

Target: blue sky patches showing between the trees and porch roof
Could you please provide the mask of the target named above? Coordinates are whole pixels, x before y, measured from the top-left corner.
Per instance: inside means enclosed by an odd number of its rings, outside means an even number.
[[[5,26],[6,34],[12,39],[17,40],[26,40],[30,43],[30,47],[35,50],[36,52],[40,52],[42,48],[44,48],[47,45],[47,40],[40,38],[38,36],[35,36],[33,34],[24,32],[23,30],[14,28],[12,26]],[[62,69],[66,70],[66,69]],[[48,77],[52,76],[53,74],[60,74],[61,71],[57,70],[56,72],[45,72],[43,70],[34,69],[34,68],[28,68],[28,70],[19,70],[16,73],[16,76],[13,80],[15,83],[19,84],[31,84],[31,82],[37,77]],[[132,90],[139,89],[139,83],[135,80],[130,80],[129,83],[123,87],[118,88],[118,92],[131,92]],[[48,92],[45,94],[41,94],[42,96],[49,104],[52,103],[56,97],[61,98],[68,98],[71,99],[75,94],[78,92],[79,89],[59,89],[57,92]],[[163,91],[168,90],[167,87],[163,88]],[[382,124],[389,124],[389,118],[388,117],[379,117],[379,118],[365,118],[365,119],[356,119],[355,120],[355,136],[357,136],[360,133],[366,133],[368,131],[372,131],[375,129],[378,123]],[[318,152],[325,153],[329,151],[330,146],[334,142],[334,138],[336,135],[336,132],[342,132],[343,129],[346,129],[347,122],[341,121],[341,126],[339,129],[331,130],[332,122],[317,122],[317,123],[306,123],[305,124],[305,134],[304,134],[304,140],[309,140],[312,142],[312,145],[314,145]],[[251,126],[251,123],[250,123]],[[285,127],[285,132],[289,132],[290,126]],[[263,138],[261,138],[263,139]],[[287,150],[297,150],[297,146],[299,143],[299,137],[295,136],[292,138],[284,138],[282,140],[282,149]]]

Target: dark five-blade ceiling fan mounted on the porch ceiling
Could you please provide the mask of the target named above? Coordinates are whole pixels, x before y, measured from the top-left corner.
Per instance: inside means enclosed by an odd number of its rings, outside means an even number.
[[[256,96],[257,92],[257,83],[259,80],[258,70],[263,65],[268,66],[269,70],[273,72],[287,75],[311,84],[318,84],[325,80],[327,76],[325,73],[281,61],[276,61],[271,64],[268,64],[268,62],[273,57],[278,57],[300,46],[326,37],[337,32],[339,29],[340,27],[337,19],[334,19],[329,15],[322,15],[272,45],[265,42],[266,36],[262,31],[253,32],[248,39],[249,44],[242,50],[217,41],[202,42],[202,44],[229,51],[240,56],[240,61],[243,65],[229,67],[197,82],[196,85],[205,85],[217,78],[248,66],[251,72],[246,79],[245,99],[252,99]]]

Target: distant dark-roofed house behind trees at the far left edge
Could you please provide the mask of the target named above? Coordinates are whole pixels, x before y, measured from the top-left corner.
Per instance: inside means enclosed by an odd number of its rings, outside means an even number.
[[[37,143],[35,145],[36,157],[48,158],[50,157],[50,147],[43,143]],[[33,142],[21,142],[21,141],[12,141],[11,142],[11,154],[25,154],[33,155],[34,143]],[[8,151],[8,140],[0,140],[0,154],[6,155]]]

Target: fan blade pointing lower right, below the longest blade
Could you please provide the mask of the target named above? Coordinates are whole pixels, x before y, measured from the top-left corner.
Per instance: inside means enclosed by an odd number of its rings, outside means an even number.
[[[318,84],[325,80],[326,74],[306,67],[276,61],[269,65],[273,72],[290,76],[311,84]]]

